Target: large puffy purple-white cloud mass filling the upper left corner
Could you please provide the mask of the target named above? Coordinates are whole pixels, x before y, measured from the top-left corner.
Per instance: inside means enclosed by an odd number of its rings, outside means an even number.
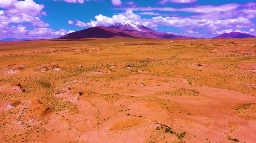
[[[52,38],[60,37],[68,32],[64,29],[52,30],[47,27],[50,25],[40,19],[41,15],[47,16],[43,11],[45,6],[35,3],[33,0],[0,0],[0,38],[6,37],[33,37],[33,38]],[[12,23],[29,22],[30,25],[12,25]],[[28,30],[28,26],[33,26]]]

